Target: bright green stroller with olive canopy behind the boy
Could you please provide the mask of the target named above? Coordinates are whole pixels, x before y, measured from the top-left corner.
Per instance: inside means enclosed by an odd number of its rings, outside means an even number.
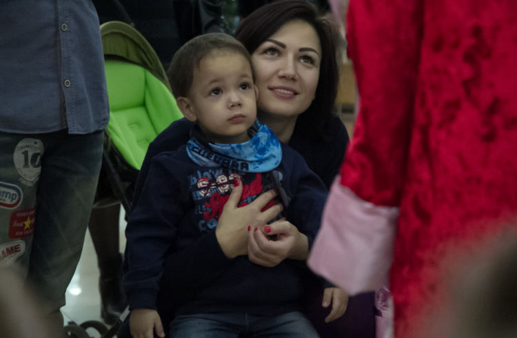
[[[128,211],[149,143],[182,115],[158,56],[138,31],[110,21],[101,25],[101,36],[110,100],[102,184],[110,189],[99,187],[98,201],[114,195]]]

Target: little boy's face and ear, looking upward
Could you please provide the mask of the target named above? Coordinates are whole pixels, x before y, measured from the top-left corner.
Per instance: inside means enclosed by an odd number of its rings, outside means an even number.
[[[216,52],[194,70],[188,97],[178,105],[190,121],[198,121],[205,137],[214,143],[248,141],[247,130],[256,119],[252,68],[236,52]]]

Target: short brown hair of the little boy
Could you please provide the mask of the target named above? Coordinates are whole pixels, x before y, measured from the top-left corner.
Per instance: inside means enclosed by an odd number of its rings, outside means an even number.
[[[194,81],[194,68],[199,67],[203,60],[212,52],[233,52],[243,55],[250,62],[252,58],[242,43],[225,33],[207,33],[187,41],[176,51],[167,70],[172,94],[187,97]]]

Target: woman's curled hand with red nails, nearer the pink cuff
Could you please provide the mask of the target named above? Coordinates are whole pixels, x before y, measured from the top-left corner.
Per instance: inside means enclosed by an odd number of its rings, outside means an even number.
[[[247,239],[247,255],[254,264],[276,266],[286,258],[307,259],[307,236],[285,218],[253,228]]]

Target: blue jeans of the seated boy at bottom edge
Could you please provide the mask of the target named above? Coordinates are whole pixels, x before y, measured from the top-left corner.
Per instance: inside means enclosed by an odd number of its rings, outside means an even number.
[[[181,315],[170,324],[171,338],[317,338],[318,333],[301,312],[277,316],[246,312]]]

